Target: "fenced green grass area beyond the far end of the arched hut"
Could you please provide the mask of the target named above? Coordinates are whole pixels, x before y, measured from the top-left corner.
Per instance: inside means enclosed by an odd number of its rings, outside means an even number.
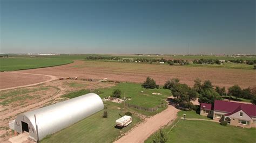
[[[124,98],[124,92],[126,94],[126,97],[131,97],[132,99],[130,101],[126,101],[126,103],[130,103],[132,105],[139,105],[146,108],[154,108],[156,106],[161,105],[161,102],[165,102],[164,100],[167,98],[167,96],[171,96],[171,91],[167,89],[145,89],[141,87],[141,84],[138,83],[118,83],[114,87],[109,88],[102,88],[97,89],[95,91],[89,91],[89,90],[79,90],[70,92],[69,94],[62,95],[64,98],[75,98],[84,94],[87,94],[89,92],[95,92],[98,94],[101,98],[112,96],[112,92],[114,89],[120,89],[122,91],[121,97]],[[142,92],[143,91],[143,92]],[[153,92],[160,93],[161,95],[152,95]],[[124,103],[113,103],[113,102],[105,102],[110,105],[118,106],[120,108],[124,107]],[[152,116],[156,115],[157,113],[163,111],[166,109],[166,106],[158,108],[156,111],[145,111],[145,110],[138,110],[134,108],[128,108],[127,111],[130,110],[132,112],[138,112],[146,116]]]

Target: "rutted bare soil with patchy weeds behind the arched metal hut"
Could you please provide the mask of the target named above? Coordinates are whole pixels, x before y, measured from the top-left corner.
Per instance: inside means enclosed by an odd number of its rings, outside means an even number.
[[[79,85],[79,86],[74,86]],[[55,80],[32,87],[0,91],[0,130],[3,133],[0,142],[8,140],[14,133],[8,131],[9,121],[17,115],[43,106],[65,100],[61,95],[81,89],[98,89],[111,87],[115,83],[90,82],[83,80]]]

